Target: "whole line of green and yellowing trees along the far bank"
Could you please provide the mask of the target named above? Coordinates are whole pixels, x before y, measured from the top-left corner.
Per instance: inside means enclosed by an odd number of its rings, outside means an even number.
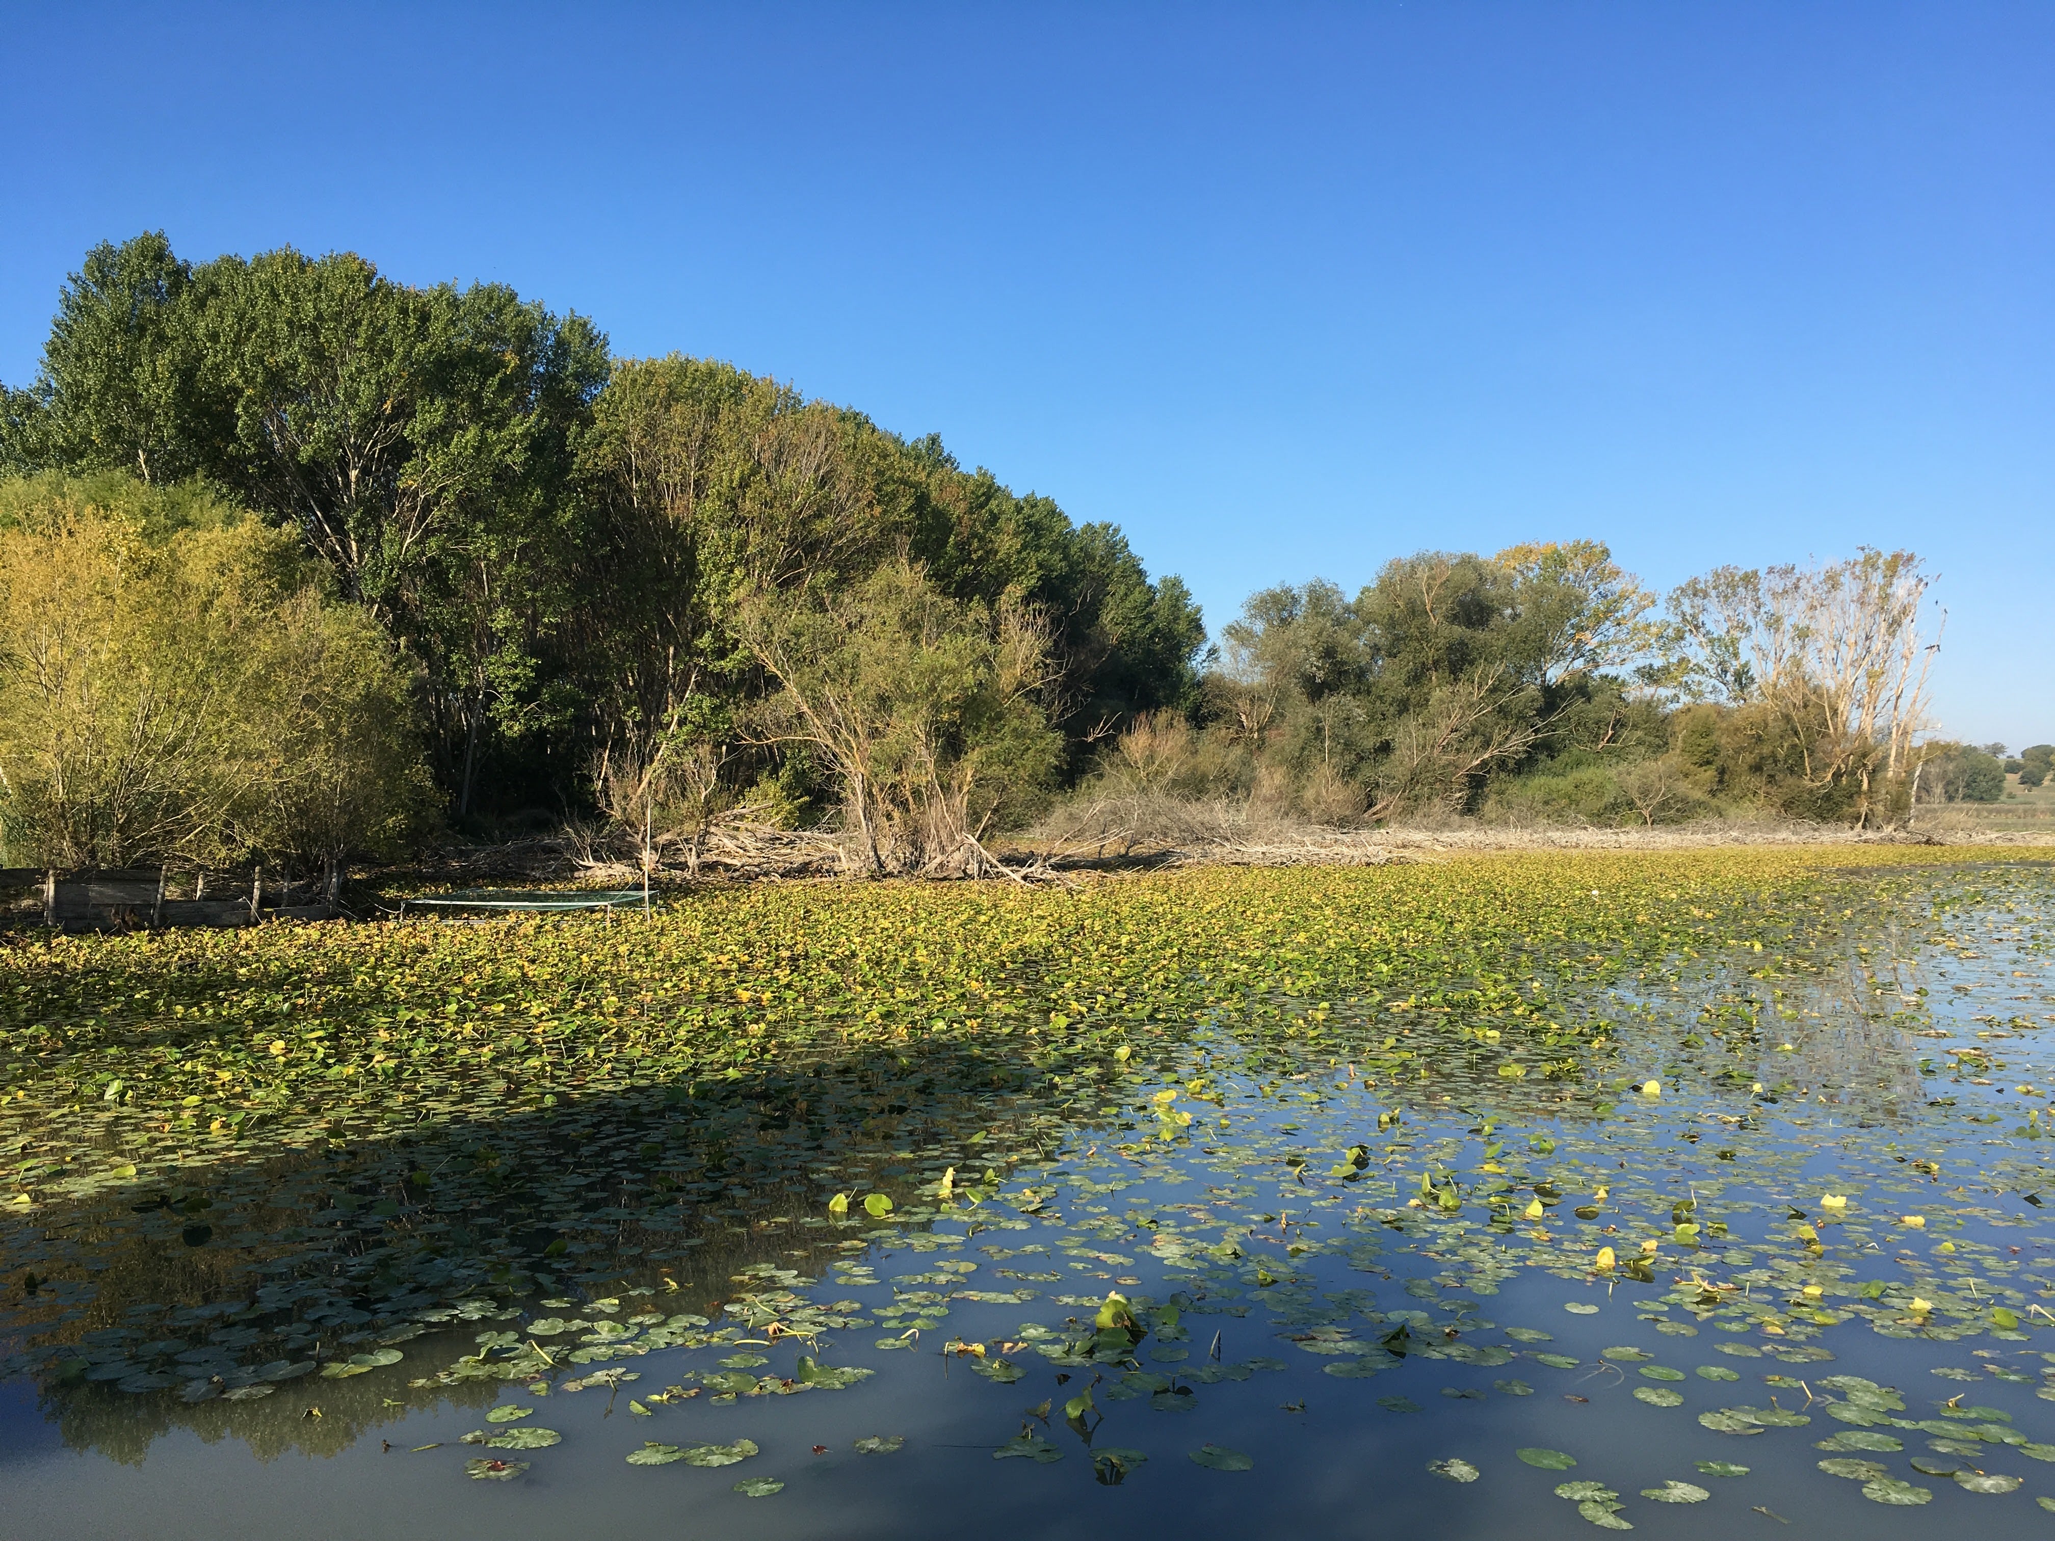
[[[1338,822],[1880,822],[1934,758],[1905,553],[1667,604],[1593,542],[1422,553],[1258,594],[1208,651],[1118,528],[933,436],[349,253],[97,247],[0,475],[12,861],[592,816],[697,849],[744,807],[954,869],[1136,781]]]

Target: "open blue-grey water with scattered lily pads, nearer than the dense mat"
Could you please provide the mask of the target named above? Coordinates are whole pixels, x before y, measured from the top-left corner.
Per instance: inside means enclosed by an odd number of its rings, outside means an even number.
[[[1311,990],[1317,1048],[1219,1011],[1089,1085],[908,1050],[43,1204],[0,1531],[2055,1525],[2055,881],[1823,881],[1782,955],[1539,970],[1554,1060]]]

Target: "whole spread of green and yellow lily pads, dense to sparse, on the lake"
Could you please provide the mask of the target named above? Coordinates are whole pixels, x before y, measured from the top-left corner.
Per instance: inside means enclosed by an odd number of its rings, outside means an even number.
[[[1765,1434],[1850,1498],[2024,1504],[2055,1494],[2055,881],[1884,855],[16,943],[6,1368],[121,1459],[454,1403],[477,1430],[419,1455],[458,1481],[577,1438],[769,1498],[799,1453],[686,1403],[939,1354],[991,1457],[1110,1486],[1251,1469],[1208,1403],[1313,1375],[1321,1416],[1447,1422],[1451,1494],[1545,1477],[1601,1529],[1773,1514]],[[1574,1422],[1463,1432],[1535,1395],[1669,1422],[1626,1488]]]

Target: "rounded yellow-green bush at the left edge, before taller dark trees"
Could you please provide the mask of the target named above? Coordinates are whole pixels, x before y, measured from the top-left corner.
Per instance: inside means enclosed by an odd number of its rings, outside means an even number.
[[[203,493],[0,483],[8,861],[390,851],[427,793],[409,684],[288,536]]]

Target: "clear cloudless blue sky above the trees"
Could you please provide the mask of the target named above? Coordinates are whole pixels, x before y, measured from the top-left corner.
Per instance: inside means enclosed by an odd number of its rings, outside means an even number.
[[[1126,528],[1905,544],[2055,740],[2055,6],[0,2],[0,378],[101,238],[503,279]]]

